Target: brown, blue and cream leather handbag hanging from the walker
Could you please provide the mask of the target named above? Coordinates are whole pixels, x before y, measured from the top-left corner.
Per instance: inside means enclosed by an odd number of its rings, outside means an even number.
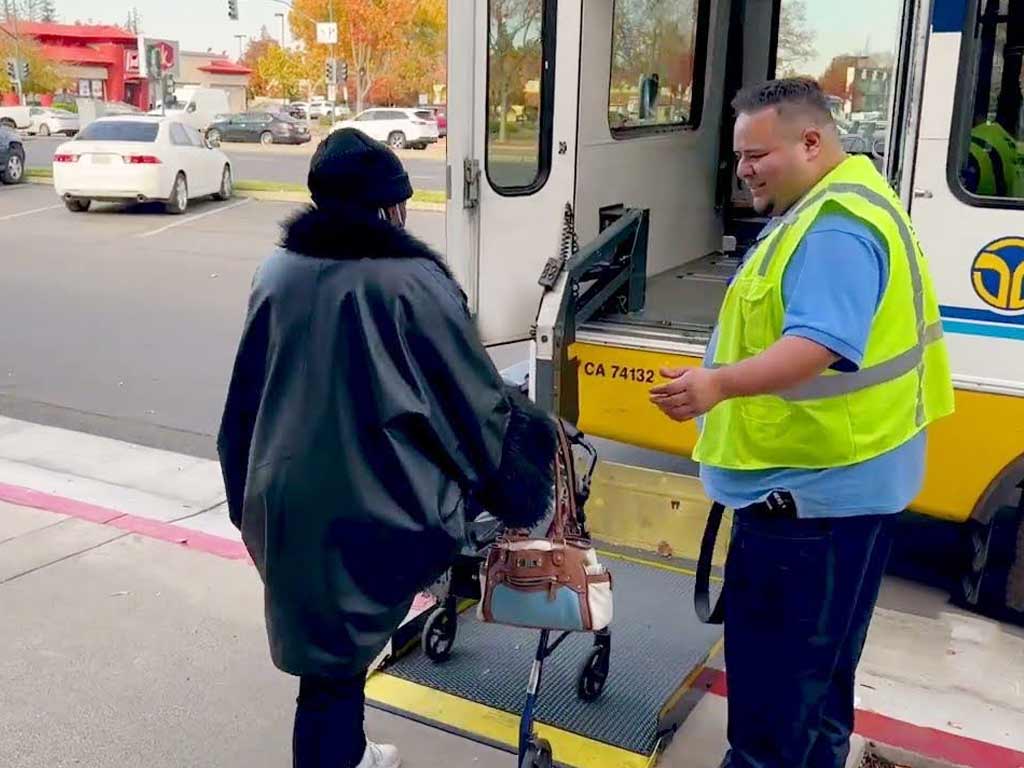
[[[611,624],[611,573],[581,523],[572,450],[561,422],[554,516],[544,539],[506,530],[480,565],[480,621],[565,632]]]

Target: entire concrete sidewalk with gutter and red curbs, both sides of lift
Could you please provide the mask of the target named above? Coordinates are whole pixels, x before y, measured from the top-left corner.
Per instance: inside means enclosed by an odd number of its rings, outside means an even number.
[[[296,681],[270,664],[223,501],[215,462],[0,418],[0,767],[289,764]],[[658,765],[718,766],[709,675]],[[889,579],[857,706],[862,736],[933,760],[911,765],[1022,768],[1024,631]],[[367,724],[410,768],[515,762],[379,711]]]

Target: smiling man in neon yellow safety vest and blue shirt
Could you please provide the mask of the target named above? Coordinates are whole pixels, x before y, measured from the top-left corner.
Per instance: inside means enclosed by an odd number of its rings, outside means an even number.
[[[734,510],[725,568],[725,768],[843,768],[854,674],[920,492],[926,428],[953,411],[938,303],[910,220],[842,150],[811,80],[733,101],[739,177],[772,219],[731,283],[705,366],[665,370],[700,418],[708,495]]]

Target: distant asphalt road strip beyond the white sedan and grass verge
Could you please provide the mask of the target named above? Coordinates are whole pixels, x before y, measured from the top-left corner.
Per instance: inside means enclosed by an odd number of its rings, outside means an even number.
[[[67,138],[40,138],[27,136],[26,165],[29,168],[48,168],[53,162],[53,153]],[[306,182],[309,158],[314,146],[260,146],[258,144],[222,144],[221,150],[234,164],[234,178],[260,181],[282,181],[295,184]],[[430,151],[428,151],[430,152]],[[423,155],[424,157],[419,157]],[[413,187],[416,189],[444,188],[444,160],[434,153],[415,150],[401,153]]]

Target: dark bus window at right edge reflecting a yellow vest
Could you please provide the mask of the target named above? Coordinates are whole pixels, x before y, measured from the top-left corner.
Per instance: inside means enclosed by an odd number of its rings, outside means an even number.
[[[968,202],[1017,207],[1024,202],[1024,162],[1019,142],[1024,1],[980,0],[970,53],[956,90],[962,140],[952,142],[950,162]],[[965,197],[965,196],[962,196]],[[1002,203],[995,203],[1002,199]]]

